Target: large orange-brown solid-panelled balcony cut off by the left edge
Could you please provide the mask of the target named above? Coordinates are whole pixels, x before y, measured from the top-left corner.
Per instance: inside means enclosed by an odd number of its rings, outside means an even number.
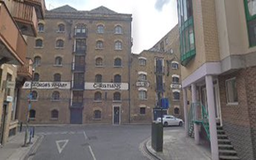
[[[0,52],[0,56],[6,57],[6,63],[25,64],[27,43],[2,1],[0,1],[0,46],[3,51],[6,50],[4,55]]]

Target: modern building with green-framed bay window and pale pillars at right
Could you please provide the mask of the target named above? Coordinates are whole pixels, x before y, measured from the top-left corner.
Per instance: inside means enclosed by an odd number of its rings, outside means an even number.
[[[177,2],[187,134],[212,159],[256,159],[256,2]]]

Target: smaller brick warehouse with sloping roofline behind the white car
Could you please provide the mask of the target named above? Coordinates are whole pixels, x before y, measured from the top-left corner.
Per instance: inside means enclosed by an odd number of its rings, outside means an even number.
[[[171,114],[183,119],[178,25],[151,49],[132,54],[131,119],[149,123],[161,116],[161,98],[168,98]]]

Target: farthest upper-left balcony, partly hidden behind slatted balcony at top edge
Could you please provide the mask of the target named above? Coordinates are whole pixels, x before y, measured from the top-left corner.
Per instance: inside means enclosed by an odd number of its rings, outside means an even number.
[[[45,18],[45,0],[24,0],[25,3],[31,4],[36,8],[36,15],[39,19]]]

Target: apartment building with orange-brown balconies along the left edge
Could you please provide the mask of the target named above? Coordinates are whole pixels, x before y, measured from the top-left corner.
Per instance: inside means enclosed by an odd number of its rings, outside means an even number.
[[[27,36],[37,35],[44,12],[44,0],[0,1],[0,145],[17,131],[18,90],[32,77]]]

